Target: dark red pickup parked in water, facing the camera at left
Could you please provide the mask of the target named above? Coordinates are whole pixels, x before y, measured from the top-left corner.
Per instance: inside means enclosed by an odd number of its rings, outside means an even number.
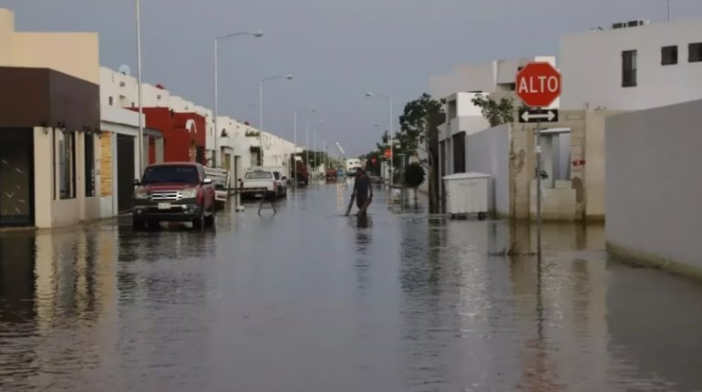
[[[159,222],[191,222],[195,229],[214,225],[214,185],[200,163],[150,165],[133,183],[135,229]]]

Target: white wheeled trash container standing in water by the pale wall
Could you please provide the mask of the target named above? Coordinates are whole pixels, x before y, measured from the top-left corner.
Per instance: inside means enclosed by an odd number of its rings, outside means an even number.
[[[492,211],[492,178],[483,173],[457,173],[443,178],[446,212],[452,218],[477,214],[483,220]]]

